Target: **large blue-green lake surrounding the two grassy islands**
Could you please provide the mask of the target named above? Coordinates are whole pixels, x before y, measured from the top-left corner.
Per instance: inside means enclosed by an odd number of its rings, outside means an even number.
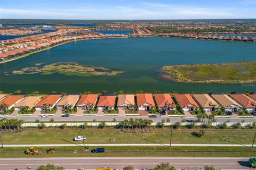
[[[255,91],[256,84],[188,84],[162,80],[157,70],[163,65],[256,61],[255,43],[180,39],[170,37],[116,38],[69,43],[10,63],[1,64],[0,89],[13,92],[38,90],[134,93],[136,90],[180,93]],[[34,66],[35,63],[77,62],[103,66],[126,73],[114,77],[52,75],[4,75],[4,72]],[[148,66],[153,66],[150,69]]]

